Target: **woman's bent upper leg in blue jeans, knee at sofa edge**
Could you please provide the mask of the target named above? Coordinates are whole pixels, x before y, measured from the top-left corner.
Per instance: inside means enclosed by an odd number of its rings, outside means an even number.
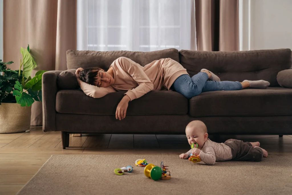
[[[192,76],[192,78],[189,75],[181,75],[172,84],[172,88],[190,99],[202,92],[209,76],[211,75],[208,75],[206,72],[199,72],[197,75]]]

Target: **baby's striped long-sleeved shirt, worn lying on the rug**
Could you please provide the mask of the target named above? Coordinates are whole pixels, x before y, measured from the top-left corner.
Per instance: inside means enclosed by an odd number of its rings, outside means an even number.
[[[192,150],[190,149],[186,154],[189,157],[192,154]],[[199,153],[199,157],[201,161],[206,163],[207,165],[214,165],[215,161],[228,161],[232,159],[232,153],[229,146],[225,145],[224,143],[217,143],[211,141],[209,138],[204,143],[201,151]]]

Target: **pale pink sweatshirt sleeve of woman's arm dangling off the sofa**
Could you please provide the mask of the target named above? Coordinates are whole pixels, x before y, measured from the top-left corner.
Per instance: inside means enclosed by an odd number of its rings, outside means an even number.
[[[138,87],[128,90],[125,95],[131,99],[137,99],[154,89],[154,86],[141,67],[129,58],[117,59],[121,67],[138,83]]]

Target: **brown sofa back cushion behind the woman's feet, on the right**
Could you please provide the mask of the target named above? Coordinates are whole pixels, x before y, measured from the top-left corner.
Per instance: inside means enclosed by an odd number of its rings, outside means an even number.
[[[291,49],[253,51],[180,50],[180,63],[192,77],[206,68],[221,81],[266,80],[279,87],[277,74],[291,67]]]

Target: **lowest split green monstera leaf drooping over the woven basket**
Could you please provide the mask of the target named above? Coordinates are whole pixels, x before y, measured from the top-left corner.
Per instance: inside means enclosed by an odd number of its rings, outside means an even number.
[[[13,96],[15,96],[16,102],[20,104],[20,106],[31,106],[34,103],[34,99],[32,97],[23,92],[23,87],[19,81],[16,81],[14,85]]]

